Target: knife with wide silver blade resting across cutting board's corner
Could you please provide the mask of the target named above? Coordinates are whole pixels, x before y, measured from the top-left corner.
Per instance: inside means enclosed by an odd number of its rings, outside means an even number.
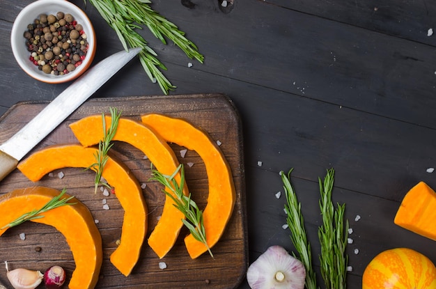
[[[42,139],[70,116],[106,81],[126,65],[141,48],[120,51],[86,71],[42,109],[29,123],[0,146],[0,180],[17,168],[18,162]]]

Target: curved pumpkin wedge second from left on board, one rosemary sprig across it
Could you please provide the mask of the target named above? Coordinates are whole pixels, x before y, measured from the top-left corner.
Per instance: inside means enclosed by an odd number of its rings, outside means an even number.
[[[66,167],[87,168],[95,163],[95,148],[79,144],[49,146],[24,159],[17,168],[29,180],[36,182],[50,171]],[[111,254],[111,263],[128,276],[139,259],[147,232],[147,207],[139,182],[126,166],[109,157],[102,177],[115,188],[116,197],[124,209],[120,245]]]

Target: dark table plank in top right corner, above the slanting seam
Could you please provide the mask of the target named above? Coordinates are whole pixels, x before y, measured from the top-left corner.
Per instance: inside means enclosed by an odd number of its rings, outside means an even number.
[[[313,16],[332,19],[389,36],[405,38],[427,45],[436,45],[434,37],[428,37],[428,29],[435,29],[436,12],[433,1],[286,1],[268,0],[289,9]]]

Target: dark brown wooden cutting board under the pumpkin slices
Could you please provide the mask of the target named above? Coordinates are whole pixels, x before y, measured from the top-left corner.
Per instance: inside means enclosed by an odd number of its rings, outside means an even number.
[[[9,109],[0,118],[0,143],[15,134],[33,116],[36,116],[48,102],[20,102]],[[103,265],[97,288],[235,288],[244,279],[248,266],[247,224],[244,196],[244,163],[242,152],[241,123],[235,107],[224,95],[173,95],[116,97],[88,100],[75,113],[69,116],[59,127],[49,134],[33,151],[56,143],[77,143],[68,124],[93,114],[109,115],[109,107],[122,111],[122,116],[140,120],[141,114],[158,112],[186,118],[194,125],[202,127],[212,139],[221,142],[228,163],[231,166],[236,188],[236,203],[233,215],[221,240],[212,248],[215,258],[204,253],[192,260],[183,237],[188,231],[183,228],[175,247],[162,259],[153,252],[146,240],[143,243],[139,263],[130,276],[123,276],[110,263],[109,256],[116,248],[120,238],[123,209],[116,196],[103,196],[93,193],[95,174],[82,169],[65,168],[46,175],[39,182],[27,180],[20,171],[13,171],[0,182],[0,194],[13,189],[42,185],[54,189],[67,188],[68,193],[76,196],[91,210],[98,219],[98,228],[103,240]],[[189,150],[185,157],[180,156],[183,148],[171,143],[171,148],[179,162],[194,166],[185,166],[186,182],[192,198],[200,208],[204,208],[208,196],[208,175],[198,155]],[[149,182],[150,162],[143,154],[127,143],[114,142],[112,148],[116,156],[125,162],[139,182],[146,183],[143,194],[149,212],[148,235],[157,224],[162,213],[164,193],[157,183]],[[49,160],[47,160],[49,161]],[[63,178],[58,177],[63,173]],[[109,210],[103,209],[106,199]],[[0,212],[1,214],[1,212]],[[25,240],[20,239],[25,234]],[[31,270],[46,270],[52,265],[61,265],[71,276],[75,268],[72,253],[65,238],[51,226],[26,222],[10,228],[0,237],[0,262],[8,260],[10,267],[24,267]],[[166,263],[166,269],[159,269],[159,262]],[[0,267],[0,281],[7,283],[6,270]],[[68,282],[68,281],[67,281]],[[66,286],[65,286],[66,287]]]

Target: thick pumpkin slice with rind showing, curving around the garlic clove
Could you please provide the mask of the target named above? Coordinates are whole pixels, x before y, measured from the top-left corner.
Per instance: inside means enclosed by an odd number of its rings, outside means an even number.
[[[42,208],[59,194],[61,192],[58,190],[47,187],[15,189],[3,194],[0,196],[0,228],[21,217],[22,214]],[[64,194],[63,197],[70,196]],[[54,208],[44,212],[42,214],[44,217],[31,221],[53,226],[65,237],[76,264],[68,287],[94,288],[98,282],[103,260],[102,237],[86,205],[77,198],[72,198],[68,203],[75,204]],[[8,227],[0,230],[0,235],[7,230]]]

